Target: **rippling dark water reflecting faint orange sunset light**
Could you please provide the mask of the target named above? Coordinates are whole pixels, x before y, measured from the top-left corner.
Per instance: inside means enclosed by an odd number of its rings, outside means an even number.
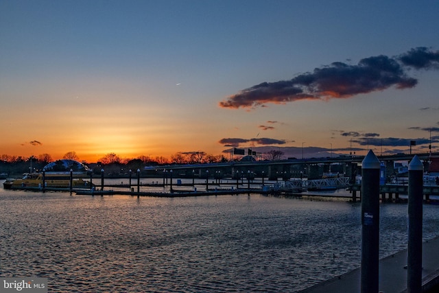
[[[0,203],[0,276],[50,292],[298,292],[360,266],[361,205],[340,200],[0,189]],[[425,239],[438,215],[424,206]],[[381,257],[405,248],[407,204],[381,204],[380,238]]]

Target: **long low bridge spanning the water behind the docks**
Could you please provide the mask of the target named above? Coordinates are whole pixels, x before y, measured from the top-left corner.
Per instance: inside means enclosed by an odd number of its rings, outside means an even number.
[[[439,158],[439,152],[416,154],[425,165],[434,158]],[[394,161],[410,161],[414,154],[394,154],[378,156],[380,161],[385,162],[387,176],[394,174]],[[326,158],[310,159],[287,159],[278,161],[228,161],[222,163],[188,164],[188,165],[167,165],[158,167],[145,167],[143,176],[154,176],[164,178],[174,176],[183,178],[268,178],[276,180],[281,178],[300,178],[306,176],[309,179],[321,178],[323,172],[339,172],[347,176],[353,176],[355,172],[360,174],[359,164],[364,156],[337,156]],[[338,166],[335,166],[338,164]],[[338,167],[338,170],[331,170],[331,167]]]

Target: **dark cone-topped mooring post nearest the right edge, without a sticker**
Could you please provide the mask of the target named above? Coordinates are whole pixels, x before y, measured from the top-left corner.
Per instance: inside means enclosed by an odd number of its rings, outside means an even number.
[[[422,291],[423,173],[423,163],[415,155],[409,164],[407,293],[420,293]]]

